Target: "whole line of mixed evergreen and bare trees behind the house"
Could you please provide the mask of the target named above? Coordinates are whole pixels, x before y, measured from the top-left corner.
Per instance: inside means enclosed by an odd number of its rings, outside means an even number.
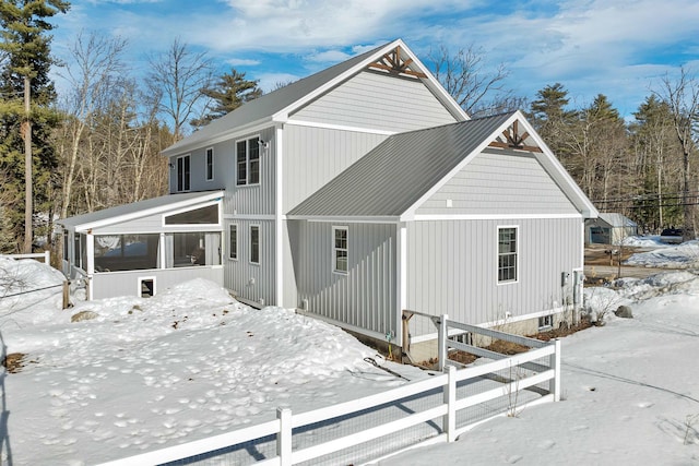
[[[94,33],[70,45],[59,94],[49,21],[69,9],[62,0],[0,2],[0,253],[52,247],[57,218],[165,194],[161,152],[262,95],[258,81],[235,69],[216,74],[206,53],[179,39],[149,56],[140,75],[126,64],[126,40]],[[602,212],[649,231],[697,230],[699,82],[687,70],[662,80],[626,121],[603,94],[571,108],[560,83],[530,103],[505,86],[506,64],[491,69],[486,58],[475,46],[440,46],[425,62],[472,117],[524,109]]]

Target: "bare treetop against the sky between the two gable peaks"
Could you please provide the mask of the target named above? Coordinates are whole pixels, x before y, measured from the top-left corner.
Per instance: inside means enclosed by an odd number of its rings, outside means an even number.
[[[484,63],[485,56],[482,48],[473,45],[459,49],[453,56],[441,45],[428,55],[435,77],[471,116],[493,113],[494,108],[496,111],[510,109],[502,104],[523,104],[512,100],[511,92],[505,88],[503,81],[509,75],[505,64],[490,71]],[[500,105],[493,105],[498,101]]]

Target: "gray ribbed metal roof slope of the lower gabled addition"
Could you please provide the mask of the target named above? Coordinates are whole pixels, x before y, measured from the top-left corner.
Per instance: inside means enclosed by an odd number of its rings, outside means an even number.
[[[514,112],[388,138],[293,208],[297,217],[399,217]]]

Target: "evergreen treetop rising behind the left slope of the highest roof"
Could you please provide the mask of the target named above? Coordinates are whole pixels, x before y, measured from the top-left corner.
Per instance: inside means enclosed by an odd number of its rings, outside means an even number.
[[[192,120],[192,127],[203,127],[211,121],[240,107],[246,101],[250,101],[262,95],[262,89],[258,87],[258,81],[245,79],[245,73],[239,73],[230,69],[230,73],[223,74],[212,87],[202,89],[202,94],[211,98],[213,106],[204,117]]]

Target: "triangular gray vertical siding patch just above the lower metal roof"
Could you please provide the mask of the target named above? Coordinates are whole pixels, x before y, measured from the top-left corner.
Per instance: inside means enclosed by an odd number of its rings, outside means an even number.
[[[287,124],[284,129],[283,212],[287,213],[387,138]]]

